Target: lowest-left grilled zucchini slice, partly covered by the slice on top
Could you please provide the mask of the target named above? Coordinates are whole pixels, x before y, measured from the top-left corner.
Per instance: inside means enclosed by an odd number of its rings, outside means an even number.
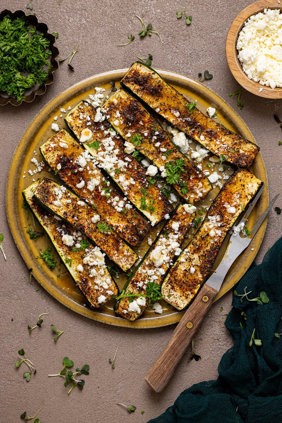
[[[101,253],[98,247],[89,248],[87,253],[85,253],[85,250],[80,250],[79,246],[77,251],[72,251],[73,247],[63,242],[63,235],[69,235],[73,239],[77,239],[77,231],[63,220],[57,220],[53,214],[47,214],[46,210],[42,209],[33,200],[33,193],[37,186],[38,182],[34,182],[22,192],[25,201],[47,233],[74,283],[78,286],[90,305],[100,307],[106,304],[112,299],[112,295],[118,295],[119,290],[104,262],[104,254]],[[81,234],[77,243],[80,244],[82,240],[86,241],[87,238]],[[99,262],[94,262],[94,258],[99,258]],[[83,267],[82,272],[77,270],[79,264]]]

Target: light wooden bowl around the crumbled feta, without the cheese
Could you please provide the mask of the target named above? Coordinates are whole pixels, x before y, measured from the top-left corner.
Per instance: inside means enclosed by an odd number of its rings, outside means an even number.
[[[266,87],[265,85],[261,85],[259,82],[255,82],[254,80],[251,80],[247,77],[238,59],[238,51],[236,49],[237,39],[245,21],[250,16],[257,14],[258,12],[263,12],[265,8],[280,9],[281,12],[282,1],[281,4],[274,0],[257,1],[246,7],[241,11],[241,13],[238,14],[238,16],[234,19],[226,37],[226,60],[235,80],[239,82],[239,84],[247,91],[268,99],[282,99],[282,88]],[[260,88],[263,88],[263,91],[260,92]]]

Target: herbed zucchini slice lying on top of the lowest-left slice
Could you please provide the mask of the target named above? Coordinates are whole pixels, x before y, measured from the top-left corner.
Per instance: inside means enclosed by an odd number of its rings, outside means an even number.
[[[42,178],[33,199],[44,209],[56,214],[84,233],[124,272],[138,259],[138,255],[111,230],[106,220],[101,220],[92,207],[80,201],[77,195],[63,185],[60,186],[51,179]],[[105,229],[102,229],[100,225],[104,225]]]

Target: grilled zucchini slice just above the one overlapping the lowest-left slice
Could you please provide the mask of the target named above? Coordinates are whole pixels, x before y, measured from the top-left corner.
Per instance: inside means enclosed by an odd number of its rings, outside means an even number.
[[[95,207],[121,238],[131,245],[142,240],[150,228],[147,220],[110,187],[95,160],[65,129],[42,144],[40,151],[60,178],[82,200]],[[83,186],[79,188],[77,184]]]

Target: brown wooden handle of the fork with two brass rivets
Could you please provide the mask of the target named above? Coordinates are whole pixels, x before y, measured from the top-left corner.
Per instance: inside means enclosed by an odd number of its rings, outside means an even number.
[[[161,392],[211,307],[217,291],[204,284],[172,333],[169,343],[149,370],[145,381]]]

